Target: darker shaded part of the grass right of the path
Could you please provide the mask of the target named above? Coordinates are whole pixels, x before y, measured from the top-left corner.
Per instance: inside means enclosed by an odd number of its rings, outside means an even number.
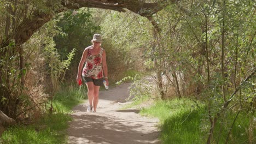
[[[161,126],[161,139],[164,143],[205,143],[200,128],[202,113],[205,113],[203,108],[183,110],[167,118]]]

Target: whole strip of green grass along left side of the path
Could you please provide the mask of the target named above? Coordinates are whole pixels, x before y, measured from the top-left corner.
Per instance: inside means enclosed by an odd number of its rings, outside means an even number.
[[[84,89],[84,88],[82,88]],[[82,103],[85,91],[66,88],[54,97],[54,113],[45,114],[30,125],[15,125],[4,131],[0,143],[67,143],[66,129],[72,121],[68,113]]]

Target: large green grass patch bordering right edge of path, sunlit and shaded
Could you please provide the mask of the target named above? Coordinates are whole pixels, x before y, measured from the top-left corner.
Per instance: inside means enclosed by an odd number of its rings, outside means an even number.
[[[205,112],[203,105],[196,106],[192,100],[173,99],[156,101],[141,114],[160,119],[162,143],[205,143],[200,129]]]

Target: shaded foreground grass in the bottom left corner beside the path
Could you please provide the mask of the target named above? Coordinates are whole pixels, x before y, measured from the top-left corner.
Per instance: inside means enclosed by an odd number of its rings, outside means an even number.
[[[2,143],[66,143],[65,130],[71,120],[64,113],[46,115],[35,124],[16,125],[4,131]]]

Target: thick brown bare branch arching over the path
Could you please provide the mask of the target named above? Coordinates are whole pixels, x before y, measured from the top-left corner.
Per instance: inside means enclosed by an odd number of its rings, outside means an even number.
[[[146,3],[139,0],[62,0],[60,9],[55,10],[55,13],[60,13],[67,9],[79,9],[83,7],[88,8],[100,8],[100,9],[110,9],[120,12],[125,12],[125,9],[132,11],[133,13],[139,14],[145,17],[152,17],[153,14],[157,13],[163,9],[166,5],[163,4],[164,1],[159,1],[159,3]],[[49,7],[51,5],[49,4]],[[5,47],[9,44],[10,39],[14,39],[15,43],[20,45],[25,43],[34,32],[36,32],[44,23],[51,20],[53,14],[42,13],[33,11],[33,16],[24,19],[19,23],[18,27],[14,29],[15,35],[10,36],[5,41],[1,41],[1,47]]]

